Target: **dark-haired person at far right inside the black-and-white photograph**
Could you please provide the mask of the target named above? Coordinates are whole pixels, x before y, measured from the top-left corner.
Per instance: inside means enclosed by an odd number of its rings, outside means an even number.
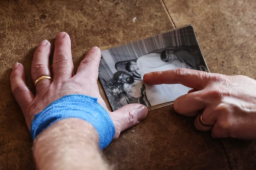
[[[170,49],[165,49],[161,52],[160,58],[164,62],[175,62],[179,60],[180,63],[175,63],[175,64],[181,65],[181,66],[178,66],[178,68],[196,69],[195,57],[192,54],[190,54],[189,51],[187,50],[174,51]]]

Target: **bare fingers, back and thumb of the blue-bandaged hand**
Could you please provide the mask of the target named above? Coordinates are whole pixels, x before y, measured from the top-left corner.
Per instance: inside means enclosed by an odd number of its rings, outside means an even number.
[[[67,33],[61,32],[55,37],[55,50],[52,63],[51,75],[49,67],[49,56],[51,44],[43,40],[35,50],[32,60],[31,75],[35,82],[38,77],[49,75],[53,80],[43,79],[36,85],[36,94],[32,94],[26,86],[25,71],[23,65],[15,63],[10,76],[12,93],[15,96],[26,124],[30,126],[34,115],[41,112],[51,102],[68,94],[84,94],[98,98],[98,102],[109,113],[115,126],[117,138],[121,131],[136,125],[147,115],[147,108],[140,104],[125,105],[111,112],[99,94],[97,85],[98,68],[101,59],[101,51],[93,47],[88,51],[81,61],[76,75],[71,55],[71,41]]]

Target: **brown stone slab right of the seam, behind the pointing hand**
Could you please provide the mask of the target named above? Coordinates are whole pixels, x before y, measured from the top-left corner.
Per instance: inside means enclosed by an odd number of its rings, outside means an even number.
[[[256,79],[253,0],[164,0],[175,27],[191,23],[210,71]],[[256,169],[256,142],[223,140],[233,170]]]

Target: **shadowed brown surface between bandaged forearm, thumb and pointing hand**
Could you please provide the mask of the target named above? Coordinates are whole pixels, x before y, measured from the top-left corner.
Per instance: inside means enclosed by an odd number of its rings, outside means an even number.
[[[173,108],[151,111],[104,150],[119,170],[229,170],[225,149]]]

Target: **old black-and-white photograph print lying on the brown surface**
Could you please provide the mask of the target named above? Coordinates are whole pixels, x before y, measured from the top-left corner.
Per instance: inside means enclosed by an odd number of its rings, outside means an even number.
[[[149,85],[143,82],[143,76],[175,68],[209,72],[190,25],[102,51],[99,79],[113,111],[129,103],[157,108],[172,103],[190,88],[180,84]]]

